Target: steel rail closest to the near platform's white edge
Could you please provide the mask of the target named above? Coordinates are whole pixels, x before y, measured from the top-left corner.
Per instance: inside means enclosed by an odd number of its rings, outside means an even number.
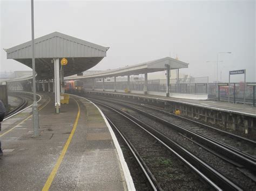
[[[163,190],[161,188],[161,186],[159,185],[159,183],[157,182],[156,178],[154,178],[154,175],[150,171],[149,167],[147,167],[145,161],[142,159],[142,157],[140,157],[136,148],[134,148],[134,146],[131,144],[130,140],[127,139],[127,137],[122,132],[120,132],[119,128],[116,125],[114,125],[114,123],[110,120],[109,117],[107,117],[107,116],[105,116],[105,117],[106,117],[107,121],[109,121],[111,126],[113,126],[113,128],[115,128],[117,130],[117,132],[123,138],[126,145],[129,147],[129,149],[132,152],[134,158],[137,160],[140,168],[142,168],[142,171],[144,172],[147,180],[150,182],[150,185],[151,185],[152,189],[153,190]]]

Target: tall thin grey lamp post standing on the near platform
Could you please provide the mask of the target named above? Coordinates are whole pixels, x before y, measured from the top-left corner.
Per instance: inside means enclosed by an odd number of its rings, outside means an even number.
[[[35,69],[35,42],[34,42],[34,8],[33,0],[31,0],[31,53],[32,53],[32,69],[33,69],[33,130],[34,136],[39,135],[39,118],[38,118],[38,105],[36,101],[36,69]]]

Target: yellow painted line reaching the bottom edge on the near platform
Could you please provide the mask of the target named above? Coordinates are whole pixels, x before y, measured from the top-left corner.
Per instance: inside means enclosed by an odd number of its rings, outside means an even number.
[[[72,99],[75,100],[74,98],[72,98]],[[78,104],[77,101],[76,101],[76,103],[77,103],[77,106],[78,106],[78,112],[77,112],[76,121],[75,121],[75,123],[73,125],[73,129],[72,129],[72,131],[70,133],[70,136],[69,136],[68,140],[66,141],[66,144],[65,144],[65,146],[64,146],[64,148],[62,150],[62,153],[60,153],[60,155],[59,155],[59,158],[58,158],[58,160],[57,160],[57,162],[55,164],[55,167],[53,167],[50,176],[48,177],[47,181],[45,182],[45,185],[44,185],[42,191],[49,190],[49,188],[51,186],[51,183],[52,183],[53,179],[55,178],[55,175],[56,175],[56,173],[58,171],[58,168],[59,168],[60,164],[62,163],[62,160],[63,160],[63,158],[64,158],[64,156],[66,154],[66,151],[68,150],[68,147],[69,147],[69,144],[70,144],[70,142],[72,140],[72,137],[73,137],[73,135],[74,135],[74,133],[76,131],[78,119],[79,119],[79,116],[80,116],[80,107],[79,107],[79,104]]]

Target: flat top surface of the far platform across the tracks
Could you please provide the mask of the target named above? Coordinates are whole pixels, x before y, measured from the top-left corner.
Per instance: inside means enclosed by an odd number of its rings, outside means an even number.
[[[103,93],[103,91],[96,91],[96,92]],[[203,107],[203,108],[229,111],[229,112],[234,112],[234,113],[241,114],[241,115],[248,115],[248,116],[256,117],[256,107],[253,107],[253,105],[242,104],[242,103],[231,103],[231,102],[228,103],[228,102],[224,102],[224,101],[218,102],[218,101],[214,101],[214,100],[188,100],[188,99],[164,97],[164,96],[156,96],[156,95],[114,93],[112,91],[104,91],[104,93],[120,94],[120,95],[134,95],[134,96],[145,97],[145,98],[150,97],[150,98],[156,98],[159,100],[169,100],[169,101],[173,101],[173,102],[197,105],[197,106]]]

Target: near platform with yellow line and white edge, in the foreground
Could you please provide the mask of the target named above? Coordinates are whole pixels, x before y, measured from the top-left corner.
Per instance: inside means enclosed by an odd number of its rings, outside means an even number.
[[[96,105],[70,96],[55,114],[53,94],[41,97],[38,137],[32,108],[2,123],[0,190],[133,190],[121,148]]]

